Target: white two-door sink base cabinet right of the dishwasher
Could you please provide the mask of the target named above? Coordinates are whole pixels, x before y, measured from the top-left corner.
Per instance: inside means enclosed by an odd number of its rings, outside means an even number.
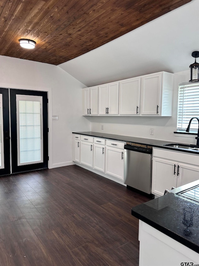
[[[199,179],[199,156],[185,152],[153,149],[152,193],[164,195],[165,189],[186,185]]]

